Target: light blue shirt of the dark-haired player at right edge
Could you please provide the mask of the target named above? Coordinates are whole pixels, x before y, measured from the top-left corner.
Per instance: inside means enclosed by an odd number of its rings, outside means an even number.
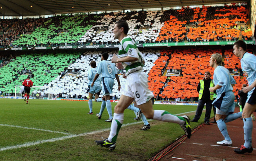
[[[256,56],[245,52],[240,62],[243,76],[247,78],[249,85],[251,85],[256,80]]]

